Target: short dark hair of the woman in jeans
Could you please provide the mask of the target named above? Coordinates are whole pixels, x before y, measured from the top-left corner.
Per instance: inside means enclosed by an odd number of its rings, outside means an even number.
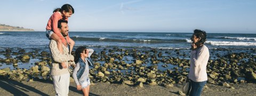
[[[197,38],[201,38],[198,43],[202,43],[204,44],[204,42],[206,41],[206,32],[204,30],[199,30],[199,29],[195,29],[194,30],[194,35]]]

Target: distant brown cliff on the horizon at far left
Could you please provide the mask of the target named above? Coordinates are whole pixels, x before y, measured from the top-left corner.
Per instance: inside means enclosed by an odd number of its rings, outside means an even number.
[[[13,27],[9,25],[0,24],[0,31],[34,31],[34,29],[26,29],[23,27]]]

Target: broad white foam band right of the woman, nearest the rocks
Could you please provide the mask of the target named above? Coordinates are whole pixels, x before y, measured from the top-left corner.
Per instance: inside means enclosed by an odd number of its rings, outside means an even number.
[[[256,43],[254,42],[206,41],[205,43],[210,43],[211,45],[217,46],[256,46]]]

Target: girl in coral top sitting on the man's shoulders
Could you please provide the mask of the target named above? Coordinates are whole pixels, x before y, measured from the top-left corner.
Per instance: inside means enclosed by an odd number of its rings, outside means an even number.
[[[55,9],[53,11],[53,14],[50,17],[46,26],[46,37],[49,39],[53,39],[57,42],[58,49],[61,53],[63,53],[62,43],[65,46],[67,46],[67,43],[70,45],[70,54],[73,49],[73,46],[75,45],[75,42],[73,41],[73,39],[69,38],[69,36],[67,36],[67,41],[65,41],[65,38],[61,35],[58,29],[58,21],[60,19],[68,20],[68,18],[71,17],[71,15],[74,14],[74,12],[75,11],[71,5],[62,5],[61,9]]]

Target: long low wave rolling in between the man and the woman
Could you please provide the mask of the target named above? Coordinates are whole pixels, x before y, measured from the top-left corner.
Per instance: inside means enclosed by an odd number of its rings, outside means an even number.
[[[95,38],[95,37],[71,37],[75,41],[91,41],[91,42],[123,42],[123,43],[182,43],[187,39],[118,39],[118,38]]]

